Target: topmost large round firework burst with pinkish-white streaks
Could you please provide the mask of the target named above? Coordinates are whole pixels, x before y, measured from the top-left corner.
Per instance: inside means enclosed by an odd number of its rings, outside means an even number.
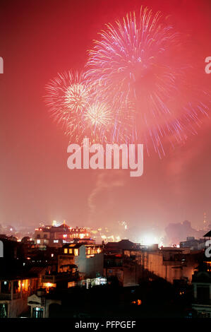
[[[89,52],[87,76],[107,95],[122,102],[143,95],[148,85],[152,95],[159,91],[165,97],[175,88],[176,68],[170,69],[167,59],[179,45],[179,34],[161,24],[161,18],[159,12],[153,16],[141,8],[138,18],[129,13],[100,32],[101,40]]]

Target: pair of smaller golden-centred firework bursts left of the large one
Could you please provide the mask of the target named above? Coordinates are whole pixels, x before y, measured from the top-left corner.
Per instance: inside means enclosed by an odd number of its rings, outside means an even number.
[[[83,73],[59,73],[46,89],[45,101],[70,142],[83,144],[84,137],[90,138],[90,144],[111,142],[113,109],[96,96],[95,86]]]

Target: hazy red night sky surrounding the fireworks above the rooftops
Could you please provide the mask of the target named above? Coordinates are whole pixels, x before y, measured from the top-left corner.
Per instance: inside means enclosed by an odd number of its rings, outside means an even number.
[[[159,160],[145,155],[142,177],[129,170],[68,170],[68,138],[44,105],[44,85],[56,73],[83,69],[87,50],[104,23],[147,5],[191,36],[193,56],[205,69],[211,56],[209,0],[1,1],[0,223],[163,228],[211,223],[211,134],[205,119],[198,135]],[[193,68],[194,70],[194,68]],[[207,74],[205,74],[206,76]],[[205,77],[210,90],[210,76]]]

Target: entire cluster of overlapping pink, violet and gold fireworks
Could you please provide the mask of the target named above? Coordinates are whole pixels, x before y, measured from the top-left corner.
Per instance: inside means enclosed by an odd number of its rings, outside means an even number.
[[[45,100],[70,141],[144,143],[161,157],[164,145],[197,134],[208,112],[205,91],[191,76],[179,32],[147,8],[100,32],[86,73],[58,74]],[[197,79],[195,79],[197,78]]]

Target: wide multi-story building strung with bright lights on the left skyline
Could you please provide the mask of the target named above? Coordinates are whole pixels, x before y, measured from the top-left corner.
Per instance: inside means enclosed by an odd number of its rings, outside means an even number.
[[[93,244],[90,232],[83,227],[69,227],[66,223],[56,226],[44,226],[35,228],[35,244],[39,248],[62,247],[66,243],[85,242]]]

